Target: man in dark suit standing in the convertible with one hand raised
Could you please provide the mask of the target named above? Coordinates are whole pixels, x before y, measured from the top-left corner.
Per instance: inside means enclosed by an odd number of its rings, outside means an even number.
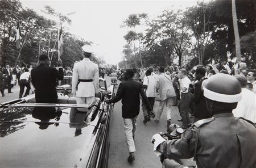
[[[36,103],[56,103],[56,79],[63,79],[62,61],[59,59],[59,70],[49,66],[50,59],[46,54],[39,57],[39,66],[31,71],[32,84],[35,87]]]

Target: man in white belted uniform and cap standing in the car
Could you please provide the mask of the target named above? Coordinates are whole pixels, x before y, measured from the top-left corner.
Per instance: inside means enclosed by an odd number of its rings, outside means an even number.
[[[91,45],[82,47],[84,59],[74,64],[72,75],[72,93],[77,104],[92,104],[98,93],[98,65],[90,61],[93,48]]]

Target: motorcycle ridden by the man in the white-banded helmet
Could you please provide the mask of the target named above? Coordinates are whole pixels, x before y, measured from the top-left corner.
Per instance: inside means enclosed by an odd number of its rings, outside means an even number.
[[[164,139],[166,140],[175,140],[175,139],[179,139],[181,138],[181,134],[184,133],[184,129],[181,128],[178,124],[171,124],[168,128],[167,128],[167,133],[162,133],[160,132],[159,135],[162,136]],[[155,140],[152,140],[152,144],[154,144]],[[168,159],[166,156],[164,156],[164,154],[160,154],[159,156],[160,158],[160,162],[163,165],[163,162],[165,159]],[[187,159],[171,159],[172,161],[168,163],[168,166],[170,167],[175,167],[172,166],[172,163],[174,163],[174,165],[187,165]],[[193,167],[195,168],[195,165],[190,165],[187,167]]]

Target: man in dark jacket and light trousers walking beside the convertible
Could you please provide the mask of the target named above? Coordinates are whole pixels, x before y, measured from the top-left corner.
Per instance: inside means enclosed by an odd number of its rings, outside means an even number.
[[[129,148],[130,156],[129,162],[134,161],[134,134],[137,127],[136,121],[139,115],[139,94],[145,103],[146,108],[149,111],[152,110],[150,102],[147,99],[147,95],[143,90],[142,83],[133,79],[134,72],[132,69],[127,69],[125,72],[125,80],[120,83],[117,94],[110,100],[105,100],[106,103],[115,103],[122,99],[122,117],[125,125],[126,142]]]

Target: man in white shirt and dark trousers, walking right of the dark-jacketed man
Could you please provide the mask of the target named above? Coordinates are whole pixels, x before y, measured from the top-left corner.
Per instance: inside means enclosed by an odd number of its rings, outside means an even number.
[[[152,107],[152,111],[147,110],[145,107],[145,102],[142,100],[142,111],[144,120],[143,123],[146,124],[147,121],[150,121],[150,117],[154,118],[155,114],[153,111],[154,103],[155,103],[155,96],[156,96],[156,81],[154,76],[151,75],[151,70],[148,69],[146,71],[146,76],[143,78],[143,87],[145,88],[145,92],[147,95],[147,99],[150,102],[150,105]]]

